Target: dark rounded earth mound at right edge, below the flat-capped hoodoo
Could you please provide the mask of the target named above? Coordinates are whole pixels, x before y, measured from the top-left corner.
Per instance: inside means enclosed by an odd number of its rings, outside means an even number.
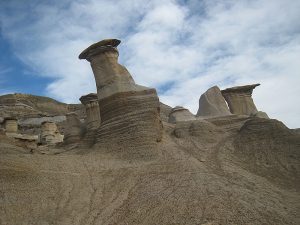
[[[300,178],[300,135],[283,123],[252,118],[241,127],[234,144],[235,154],[252,172],[275,182],[288,179],[290,185]]]

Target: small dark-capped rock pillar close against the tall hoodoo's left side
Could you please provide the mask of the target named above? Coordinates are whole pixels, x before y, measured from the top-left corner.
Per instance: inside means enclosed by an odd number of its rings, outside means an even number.
[[[86,133],[83,144],[90,147],[95,143],[95,135],[101,123],[98,97],[97,94],[91,93],[82,96],[80,101],[84,104],[86,111]]]

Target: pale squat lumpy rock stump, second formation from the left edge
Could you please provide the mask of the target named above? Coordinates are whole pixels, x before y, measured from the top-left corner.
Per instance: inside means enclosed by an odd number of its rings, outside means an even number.
[[[39,142],[43,145],[55,145],[61,143],[64,140],[64,136],[58,131],[58,128],[54,122],[45,121],[42,123],[41,134]]]

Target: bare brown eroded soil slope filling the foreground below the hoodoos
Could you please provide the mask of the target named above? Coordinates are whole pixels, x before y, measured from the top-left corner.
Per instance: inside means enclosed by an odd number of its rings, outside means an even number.
[[[0,224],[300,224],[297,132],[233,116],[164,132],[149,158],[42,155],[0,137]]]

